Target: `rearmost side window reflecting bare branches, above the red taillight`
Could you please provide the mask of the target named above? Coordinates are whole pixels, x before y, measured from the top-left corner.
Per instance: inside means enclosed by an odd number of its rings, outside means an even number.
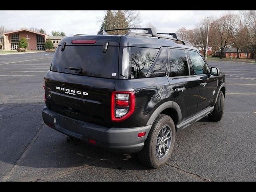
[[[150,69],[158,49],[152,48],[131,48],[132,73],[131,78],[144,78]]]

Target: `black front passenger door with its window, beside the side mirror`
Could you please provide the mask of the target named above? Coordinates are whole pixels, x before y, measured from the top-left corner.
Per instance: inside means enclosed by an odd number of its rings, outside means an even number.
[[[210,68],[196,51],[188,51],[190,62],[192,64],[192,73],[199,82],[199,99],[197,112],[210,106],[217,89],[217,77],[210,75]]]

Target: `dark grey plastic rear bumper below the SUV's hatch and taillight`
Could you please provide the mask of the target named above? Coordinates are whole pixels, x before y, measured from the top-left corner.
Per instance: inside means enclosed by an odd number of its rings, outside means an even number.
[[[42,110],[44,123],[51,128],[78,140],[96,141],[95,146],[121,154],[132,154],[142,150],[151,125],[135,128],[106,128],[88,122],[76,120],[49,110]],[[54,122],[55,118],[55,122]],[[138,138],[138,133],[146,132]]]

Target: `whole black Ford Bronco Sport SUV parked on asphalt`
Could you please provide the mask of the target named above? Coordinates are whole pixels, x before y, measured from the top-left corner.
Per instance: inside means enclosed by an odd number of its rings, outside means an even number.
[[[224,111],[225,75],[175,33],[66,37],[46,73],[45,124],[159,168],[175,136]],[[120,30],[120,29],[116,29]]]

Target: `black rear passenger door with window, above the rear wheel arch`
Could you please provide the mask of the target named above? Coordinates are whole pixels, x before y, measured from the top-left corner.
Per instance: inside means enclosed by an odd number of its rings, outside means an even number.
[[[196,113],[198,104],[198,79],[191,74],[185,50],[169,49],[168,80],[172,91],[172,100],[181,109],[182,120]]]

